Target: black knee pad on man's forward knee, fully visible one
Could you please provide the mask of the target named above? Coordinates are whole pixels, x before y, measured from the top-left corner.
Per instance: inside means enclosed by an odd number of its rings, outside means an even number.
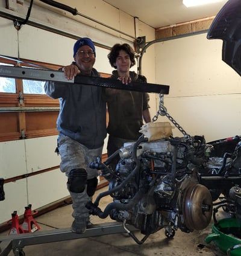
[[[69,172],[67,189],[70,192],[82,193],[86,188],[87,172],[84,169],[73,169]]]

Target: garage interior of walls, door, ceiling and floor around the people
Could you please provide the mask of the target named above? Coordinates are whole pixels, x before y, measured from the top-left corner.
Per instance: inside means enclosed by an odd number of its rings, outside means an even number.
[[[46,2],[0,1],[0,65],[56,71],[72,62],[75,41],[90,37],[96,45],[95,68],[107,78],[113,70],[107,59],[111,46],[128,43],[136,49],[137,60],[141,59],[131,70],[145,75],[148,83],[170,86],[164,106],[187,133],[204,135],[207,142],[240,135],[240,75],[222,61],[223,41],[207,39],[216,14],[228,1],[196,7],[186,7],[181,0],[58,1],[77,10],[75,15]],[[11,214],[17,211],[22,222],[25,206],[30,204],[38,212],[34,218],[41,231],[67,229],[73,220],[72,205],[60,156],[54,152],[58,100],[45,95],[45,82],[4,81],[0,80],[0,179],[4,179],[5,193],[5,200],[0,201],[0,241],[11,228]],[[150,94],[149,105],[153,118],[159,109],[158,94]],[[159,116],[158,121],[168,120]],[[176,127],[173,135],[183,133]],[[102,161],[107,159],[106,147],[107,138]],[[95,198],[106,190],[108,182],[101,177]],[[104,209],[111,200],[105,197],[99,207]],[[216,216],[230,217],[225,211]],[[113,222],[98,216],[91,221]],[[36,256],[225,255],[205,242],[212,225],[213,220],[199,231],[178,230],[174,238],[167,238],[160,229],[143,245],[120,232],[26,246],[23,251]],[[142,234],[133,232],[142,239]],[[9,255],[21,255],[17,253]]]

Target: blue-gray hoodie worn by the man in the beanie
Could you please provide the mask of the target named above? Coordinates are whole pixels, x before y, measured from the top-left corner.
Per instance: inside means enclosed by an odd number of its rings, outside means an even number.
[[[81,74],[79,74],[81,76]],[[92,77],[98,77],[92,69]],[[45,92],[60,101],[57,129],[88,149],[104,144],[106,136],[106,104],[102,88],[90,85],[46,82]]]

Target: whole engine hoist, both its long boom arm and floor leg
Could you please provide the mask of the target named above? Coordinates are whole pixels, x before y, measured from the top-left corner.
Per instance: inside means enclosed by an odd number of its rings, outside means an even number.
[[[47,80],[52,82],[61,83],[79,83],[80,85],[94,85],[104,86],[116,89],[125,89],[128,91],[139,91],[139,92],[155,92],[159,94],[169,94],[169,86],[166,85],[155,85],[151,83],[130,83],[128,86],[123,86],[118,80],[110,80],[109,78],[101,77],[75,77],[72,80],[67,80],[64,77],[63,72],[49,71],[33,68],[19,68],[13,66],[1,66],[0,65],[0,77],[13,77],[23,78],[30,80]],[[9,109],[8,109],[9,110]],[[45,110],[45,109],[43,109]],[[10,235],[8,237],[0,238],[0,256],[8,255],[11,249],[15,256],[24,256],[24,246],[28,245],[39,245],[42,243],[60,242],[66,240],[73,240],[78,238],[96,237],[99,235],[110,235],[122,232],[131,234],[131,231],[136,230],[133,226],[125,225],[121,223],[111,222],[103,223],[99,225],[92,225],[84,234],[75,234],[70,229],[56,229],[51,231],[38,231],[31,234],[18,234]],[[132,236],[134,238],[134,235]],[[148,236],[145,237],[145,239]],[[136,240],[135,240],[136,241]],[[138,241],[138,240],[137,240]],[[144,240],[143,240],[144,241]],[[142,243],[142,241],[140,242]]]

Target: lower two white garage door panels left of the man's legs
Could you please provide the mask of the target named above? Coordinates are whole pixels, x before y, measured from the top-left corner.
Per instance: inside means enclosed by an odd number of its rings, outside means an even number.
[[[9,179],[59,165],[56,144],[57,136],[0,142],[0,177]],[[36,209],[69,195],[66,177],[59,169],[7,183],[4,190],[0,223],[10,219],[13,211],[23,214],[29,203]]]

